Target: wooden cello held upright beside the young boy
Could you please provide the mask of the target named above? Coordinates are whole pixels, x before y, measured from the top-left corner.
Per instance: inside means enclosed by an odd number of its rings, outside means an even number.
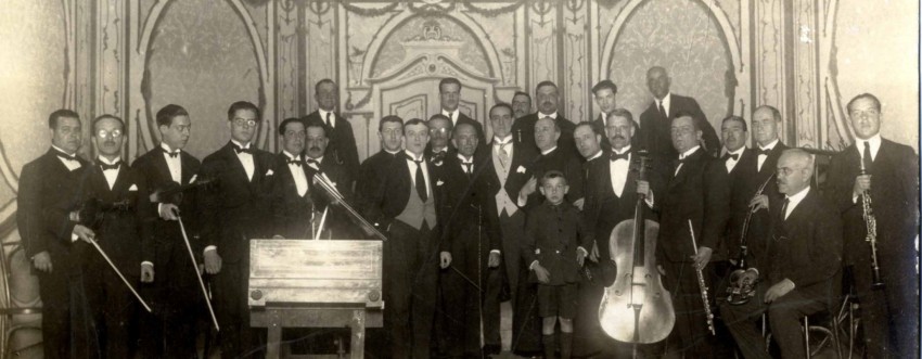
[[[646,180],[650,159],[638,151],[638,179]],[[615,226],[609,238],[617,267],[615,282],[605,287],[599,308],[602,330],[612,338],[637,344],[663,341],[673,331],[676,312],[669,292],[656,269],[656,235],[660,223],[643,218],[645,195],[638,194],[633,218]]]

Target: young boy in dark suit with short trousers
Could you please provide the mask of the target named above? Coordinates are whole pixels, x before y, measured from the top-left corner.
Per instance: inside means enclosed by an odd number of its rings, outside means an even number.
[[[550,170],[539,188],[546,201],[528,214],[523,257],[538,280],[545,358],[554,355],[554,325],[561,323],[561,358],[573,351],[573,317],[579,268],[594,239],[574,205],[564,202],[569,187],[562,172]]]

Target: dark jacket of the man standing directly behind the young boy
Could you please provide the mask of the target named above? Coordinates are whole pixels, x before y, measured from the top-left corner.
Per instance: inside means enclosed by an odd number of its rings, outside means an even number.
[[[537,184],[535,192],[528,195],[528,201],[525,203],[525,208],[530,209],[545,202],[545,196],[541,194],[541,177],[550,170],[559,170],[566,178],[566,183],[569,185],[569,191],[566,193],[565,201],[574,203],[576,200],[582,198],[582,164],[579,162],[579,156],[572,152],[561,149],[551,151],[546,155],[538,155],[530,167],[526,168],[528,178],[535,177]],[[513,200],[517,201],[516,193]]]

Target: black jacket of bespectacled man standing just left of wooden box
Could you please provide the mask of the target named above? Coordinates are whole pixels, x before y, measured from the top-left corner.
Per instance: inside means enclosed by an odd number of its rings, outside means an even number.
[[[253,145],[251,145],[253,149]],[[217,183],[203,187],[202,241],[215,245],[223,261],[248,260],[249,240],[272,235],[271,193],[274,155],[253,149],[253,179],[246,177],[231,142],[202,162],[201,177]]]

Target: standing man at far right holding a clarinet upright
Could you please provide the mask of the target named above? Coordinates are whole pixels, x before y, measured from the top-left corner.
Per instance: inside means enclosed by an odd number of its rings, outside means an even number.
[[[909,358],[918,354],[919,344],[913,244],[919,235],[919,156],[911,148],[881,137],[883,113],[873,94],[855,97],[847,110],[856,141],[833,157],[828,193],[845,223],[845,258],[853,266],[861,303],[865,345],[870,358]],[[872,286],[862,194],[868,195],[876,219],[881,289]]]

